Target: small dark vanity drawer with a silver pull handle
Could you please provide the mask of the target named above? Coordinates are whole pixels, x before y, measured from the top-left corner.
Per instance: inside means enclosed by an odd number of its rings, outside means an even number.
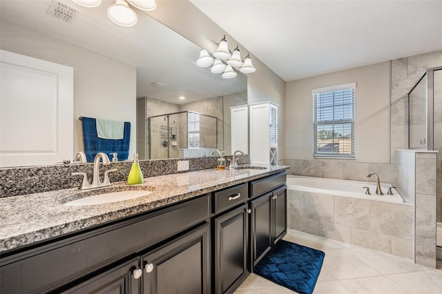
[[[249,187],[247,183],[240,184],[225,190],[214,193],[215,214],[220,213],[228,208],[236,206],[242,202],[246,202],[249,197]]]

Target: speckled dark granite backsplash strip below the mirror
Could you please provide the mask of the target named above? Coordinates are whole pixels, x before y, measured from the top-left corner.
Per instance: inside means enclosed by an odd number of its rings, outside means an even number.
[[[231,156],[226,156],[231,159]],[[238,156],[239,164],[249,164],[249,155]],[[173,173],[186,173],[187,171],[204,170],[216,167],[217,157],[198,157],[180,159],[153,159],[140,160],[140,167],[144,177],[156,177]],[[189,160],[189,170],[177,171],[177,161]],[[126,181],[132,161],[119,161],[108,166],[100,164],[100,176],[104,171],[118,168],[109,174],[111,183]],[[27,195],[32,193],[62,190],[79,187],[81,176],[70,173],[87,173],[91,181],[93,163],[90,164],[60,164],[55,166],[29,166],[20,168],[0,168],[0,197]]]

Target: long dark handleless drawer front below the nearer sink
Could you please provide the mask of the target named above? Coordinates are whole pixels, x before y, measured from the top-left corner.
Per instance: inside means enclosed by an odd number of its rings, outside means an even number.
[[[48,292],[210,217],[209,195],[0,259],[0,293]]]

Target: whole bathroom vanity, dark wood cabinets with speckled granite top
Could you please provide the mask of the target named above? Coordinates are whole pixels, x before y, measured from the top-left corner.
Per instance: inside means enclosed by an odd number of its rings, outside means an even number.
[[[75,189],[0,199],[17,209],[0,292],[233,293],[286,233],[286,168],[147,178],[151,194],[98,206],[64,205]]]

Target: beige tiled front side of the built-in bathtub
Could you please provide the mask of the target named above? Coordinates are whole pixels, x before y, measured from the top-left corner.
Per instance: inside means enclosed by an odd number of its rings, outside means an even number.
[[[414,257],[414,206],[288,190],[288,227]]]

